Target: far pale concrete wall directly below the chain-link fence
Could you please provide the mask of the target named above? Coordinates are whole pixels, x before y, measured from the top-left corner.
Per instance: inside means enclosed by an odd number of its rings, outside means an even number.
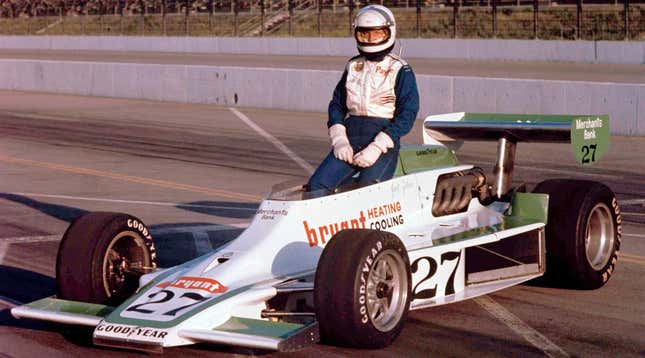
[[[407,58],[645,64],[645,41],[401,39]],[[0,48],[352,56],[351,38],[0,36]]]

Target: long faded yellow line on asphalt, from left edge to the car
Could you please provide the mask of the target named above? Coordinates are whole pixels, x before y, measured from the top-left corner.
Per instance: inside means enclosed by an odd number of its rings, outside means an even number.
[[[111,172],[105,172],[105,171],[88,169],[88,168],[73,167],[73,166],[64,165],[64,164],[41,162],[41,161],[30,160],[30,159],[13,158],[13,157],[7,157],[3,155],[0,155],[0,161],[5,163],[22,164],[22,165],[28,165],[33,167],[39,167],[39,168],[60,170],[68,173],[74,173],[74,174],[83,174],[83,175],[90,175],[90,176],[101,177],[101,178],[127,181],[130,183],[152,185],[152,186],[158,186],[162,188],[175,189],[175,190],[183,190],[183,191],[189,191],[193,193],[215,195],[215,196],[229,198],[229,199],[248,200],[248,201],[262,200],[262,197],[257,195],[236,193],[236,192],[227,191],[227,190],[211,189],[211,188],[205,188],[205,187],[195,186],[190,184],[181,184],[181,183],[175,183],[175,182],[170,182],[165,180],[136,177],[131,175],[111,173]]]

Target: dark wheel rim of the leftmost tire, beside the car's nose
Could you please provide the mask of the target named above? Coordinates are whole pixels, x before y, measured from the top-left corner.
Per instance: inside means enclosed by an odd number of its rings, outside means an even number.
[[[132,285],[136,289],[136,278],[150,266],[151,261],[145,241],[139,234],[124,231],[115,236],[103,257],[103,288],[107,297],[121,296]]]

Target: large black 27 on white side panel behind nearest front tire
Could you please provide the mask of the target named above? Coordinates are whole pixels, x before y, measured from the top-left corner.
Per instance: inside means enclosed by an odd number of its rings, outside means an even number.
[[[412,260],[412,299],[451,295],[464,287],[464,260],[461,251],[417,257]]]

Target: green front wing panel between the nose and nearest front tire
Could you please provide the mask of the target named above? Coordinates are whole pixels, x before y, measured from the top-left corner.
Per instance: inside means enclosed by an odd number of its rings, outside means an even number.
[[[304,324],[297,323],[270,322],[259,319],[231,317],[231,319],[213,328],[213,330],[272,338],[289,338],[305,326]]]

